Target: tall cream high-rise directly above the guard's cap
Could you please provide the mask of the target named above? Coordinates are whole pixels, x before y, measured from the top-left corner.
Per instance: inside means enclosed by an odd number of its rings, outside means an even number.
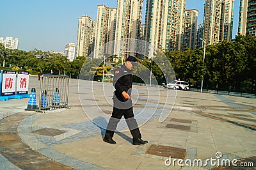
[[[126,58],[128,51],[136,49],[136,42],[125,41],[127,38],[140,39],[143,0],[118,0],[115,40],[115,53]]]

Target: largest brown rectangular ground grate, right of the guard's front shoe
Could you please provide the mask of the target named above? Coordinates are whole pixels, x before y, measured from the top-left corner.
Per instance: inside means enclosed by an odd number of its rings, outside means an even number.
[[[172,157],[172,158],[185,158],[186,149],[184,148],[175,148],[172,146],[164,146],[158,144],[152,144],[148,150],[146,151],[147,154],[150,155],[157,155],[161,157]]]

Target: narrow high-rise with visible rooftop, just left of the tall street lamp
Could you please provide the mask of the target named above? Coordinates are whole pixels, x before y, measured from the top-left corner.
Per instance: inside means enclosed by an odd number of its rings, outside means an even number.
[[[197,26],[198,10],[185,10],[184,23],[184,40],[183,47],[193,50],[196,48],[196,26]]]

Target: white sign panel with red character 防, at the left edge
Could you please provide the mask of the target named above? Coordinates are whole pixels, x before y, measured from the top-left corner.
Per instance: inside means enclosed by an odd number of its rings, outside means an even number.
[[[2,96],[15,95],[16,72],[3,71],[2,77]]]

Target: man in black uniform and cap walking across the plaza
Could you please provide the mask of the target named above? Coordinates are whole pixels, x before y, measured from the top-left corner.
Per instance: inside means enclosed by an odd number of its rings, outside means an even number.
[[[129,56],[126,62],[122,66],[118,66],[115,70],[113,86],[115,87],[115,93],[113,97],[114,107],[112,116],[109,120],[105,137],[103,139],[106,143],[116,144],[112,139],[117,123],[124,116],[125,121],[132,134],[132,141],[134,145],[140,145],[148,143],[141,139],[140,129],[138,128],[137,121],[134,119],[131,90],[132,90],[132,68],[138,66],[137,59],[133,56]]]

